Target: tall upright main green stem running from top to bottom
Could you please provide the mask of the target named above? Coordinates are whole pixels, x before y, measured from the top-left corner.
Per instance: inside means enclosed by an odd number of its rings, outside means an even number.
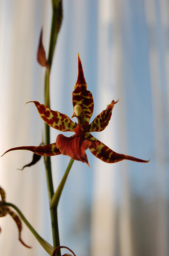
[[[62,23],[62,0],[52,0],[52,24],[51,24],[51,38],[49,44],[49,53],[48,53],[48,66],[46,67],[45,73],[45,105],[50,108],[50,94],[49,94],[49,79],[51,72],[51,65],[54,55],[54,49],[56,46],[57,35]],[[50,144],[50,127],[45,124],[45,145]],[[51,170],[51,158],[44,157],[45,160],[45,170],[46,170],[46,180],[48,185],[48,197],[49,203],[51,204],[51,199],[54,195],[54,185],[52,180],[52,170]],[[58,229],[58,218],[57,218],[57,209],[51,208],[51,225],[52,225],[52,235],[54,248],[60,245],[59,242],[59,229]],[[58,251],[60,253],[60,250]],[[61,253],[60,253],[61,254]]]

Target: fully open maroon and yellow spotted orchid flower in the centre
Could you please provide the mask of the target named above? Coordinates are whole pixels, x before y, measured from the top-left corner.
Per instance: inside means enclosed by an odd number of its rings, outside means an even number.
[[[108,148],[102,142],[93,137],[90,133],[93,131],[103,131],[109,124],[112,110],[114,105],[118,102],[114,100],[107,105],[106,110],[102,111],[93,122],[90,118],[93,114],[94,102],[92,93],[87,90],[82,63],[78,54],[78,78],[73,91],[73,116],[78,119],[78,124],[73,122],[67,115],[53,111],[46,105],[40,104],[37,101],[34,105],[37,107],[40,117],[52,128],[59,131],[73,131],[75,134],[71,137],[65,137],[59,134],[56,138],[56,143],[42,146],[22,146],[11,148],[6,151],[13,150],[29,150],[41,156],[55,156],[59,154],[68,155],[73,160],[79,160],[87,163],[89,166],[86,149],[89,148],[90,152],[105,163],[116,163],[122,160],[132,160],[135,162],[147,163],[146,160],[141,160],[135,157],[118,154]],[[27,102],[28,103],[28,102]]]

